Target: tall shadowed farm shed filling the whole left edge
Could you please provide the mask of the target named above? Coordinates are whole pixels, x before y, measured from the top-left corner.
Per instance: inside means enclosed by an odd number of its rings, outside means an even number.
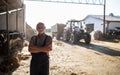
[[[23,48],[25,38],[25,8],[22,1],[0,0],[0,75],[20,65],[18,53]]]

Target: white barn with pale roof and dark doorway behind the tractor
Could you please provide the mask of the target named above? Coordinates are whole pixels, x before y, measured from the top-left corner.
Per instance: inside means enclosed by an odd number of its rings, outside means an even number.
[[[100,30],[103,33],[103,15],[88,15],[83,19],[83,24],[86,27],[86,31],[91,33],[92,31]],[[105,16],[105,33],[109,30],[120,30],[120,16],[106,15]]]

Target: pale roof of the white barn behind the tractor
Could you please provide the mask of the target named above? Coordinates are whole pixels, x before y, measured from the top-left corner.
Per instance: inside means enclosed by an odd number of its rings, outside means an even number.
[[[103,15],[88,15],[84,18],[84,20],[88,17],[93,17],[93,18],[96,18],[96,19],[100,19],[100,20],[103,20]],[[109,15],[106,15],[105,16],[105,20],[106,21],[120,21],[120,16],[109,16]]]

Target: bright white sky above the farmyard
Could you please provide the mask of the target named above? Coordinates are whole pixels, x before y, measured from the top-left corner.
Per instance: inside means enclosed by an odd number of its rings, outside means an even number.
[[[26,22],[36,28],[38,22],[44,22],[47,28],[56,23],[66,23],[70,19],[81,20],[87,15],[103,15],[103,6],[70,3],[25,1]],[[106,15],[120,16],[120,0],[106,0]]]

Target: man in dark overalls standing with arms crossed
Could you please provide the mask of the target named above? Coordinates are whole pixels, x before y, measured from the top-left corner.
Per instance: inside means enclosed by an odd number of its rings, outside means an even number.
[[[36,26],[37,36],[33,36],[29,44],[32,55],[30,75],[49,75],[49,51],[52,50],[52,38],[45,34],[45,25],[40,22]]]

